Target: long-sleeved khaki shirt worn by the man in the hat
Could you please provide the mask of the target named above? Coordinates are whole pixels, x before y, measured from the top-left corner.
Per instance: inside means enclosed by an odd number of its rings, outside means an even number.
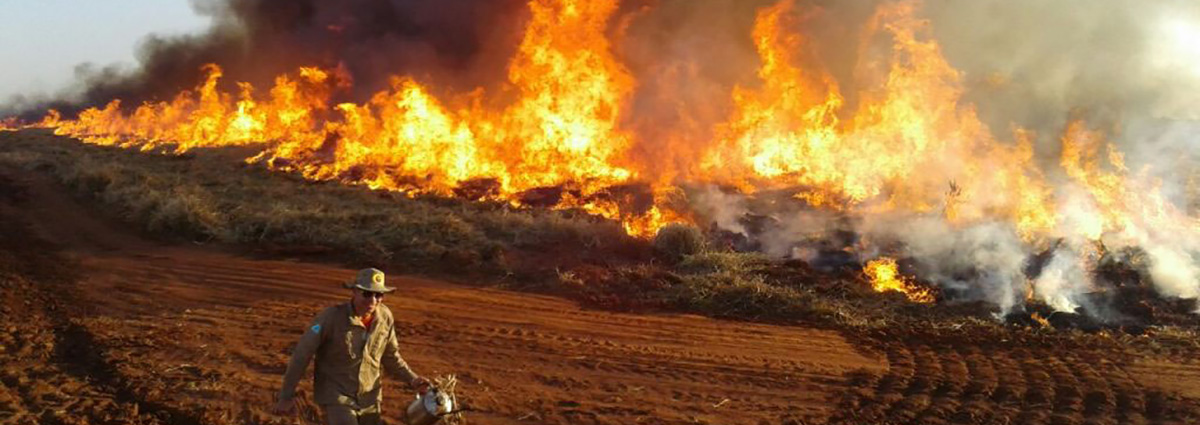
[[[376,307],[371,329],[354,316],[350,303],[317,315],[292,353],[292,363],[283,373],[281,400],[295,396],[296,384],[313,355],[317,357],[313,399],[318,405],[374,406],[382,396],[380,367],[398,375],[406,384],[416,378],[400,357],[396,324],[391,310],[383,304]]]

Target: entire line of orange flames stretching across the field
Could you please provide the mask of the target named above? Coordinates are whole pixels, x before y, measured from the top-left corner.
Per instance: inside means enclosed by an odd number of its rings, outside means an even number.
[[[1172,294],[1200,295],[1200,225],[1166,199],[1162,182],[1127,169],[1122,152],[1084,121],[1060,134],[1057,164],[1036,161],[1031,131],[995,136],[964,101],[962,76],[917,17],[917,1],[875,10],[860,29],[852,77],[842,79],[796,30],[810,18],[800,6],[762,8],[745,35],[761,60],[756,84],[714,98],[730,104],[719,119],[649,133],[628,128],[638,82],[612,52],[617,6],[529,1],[506,83],[492,92],[446,95],[397,76],[364,103],[334,104],[352,84],[341,68],[299,68],[264,95],[250,84],[222,92],[222,70],[210,65],[200,84],[169,101],[125,113],[114,100],[74,119],[52,112],[41,125],[101,144],[260,143],[253,161],[312,179],[578,208],[620,220],[638,237],[694,220],[667,202],[682,184],[790,190],[840,214],[935,216],[964,228],[1001,222],[1030,246],[1140,246],[1154,259],[1156,281],[1175,282]],[[647,155],[662,144],[647,134],[679,149]],[[642,198],[653,202],[611,193],[632,185],[649,186]],[[888,264],[894,270],[894,262],[872,264],[880,279]]]

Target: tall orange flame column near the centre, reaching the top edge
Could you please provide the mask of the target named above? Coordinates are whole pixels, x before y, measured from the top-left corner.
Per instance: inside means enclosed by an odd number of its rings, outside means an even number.
[[[539,0],[533,22],[509,68],[521,101],[504,115],[506,157],[521,158],[520,187],[594,181],[623,182],[632,173],[616,166],[630,145],[617,128],[634,79],[608,52],[605,26],[617,2]]]

